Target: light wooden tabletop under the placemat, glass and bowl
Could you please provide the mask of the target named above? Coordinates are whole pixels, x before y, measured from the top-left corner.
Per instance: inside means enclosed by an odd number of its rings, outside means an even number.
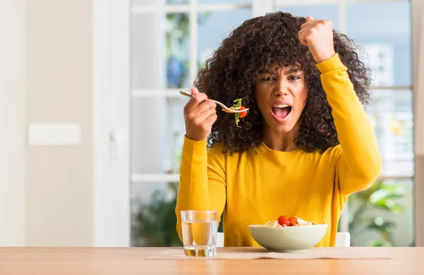
[[[164,248],[0,247],[0,274],[424,274],[424,247],[391,259],[145,259]]]

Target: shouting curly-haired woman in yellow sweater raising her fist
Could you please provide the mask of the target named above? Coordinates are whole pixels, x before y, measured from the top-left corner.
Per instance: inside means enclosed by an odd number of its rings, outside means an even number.
[[[257,246],[249,224],[281,215],[328,224],[318,245],[334,246],[343,204],[381,167],[361,104],[369,83],[353,42],[329,20],[278,12],[237,27],[184,107],[180,238],[181,210],[216,209],[225,210],[225,246]],[[237,127],[208,98],[241,98],[249,114]]]

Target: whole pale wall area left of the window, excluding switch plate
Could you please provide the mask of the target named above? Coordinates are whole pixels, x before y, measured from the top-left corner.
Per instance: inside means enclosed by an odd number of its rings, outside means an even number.
[[[128,4],[0,0],[0,246],[129,245]],[[28,145],[34,123],[81,144]]]

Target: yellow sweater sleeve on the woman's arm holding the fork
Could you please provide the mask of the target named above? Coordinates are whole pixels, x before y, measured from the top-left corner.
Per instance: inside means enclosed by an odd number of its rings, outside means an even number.
[[[226,201],[225,155],[222,147],[206,150],[205,141],[184,137],[177,195],[177,232],[182,240],[182,210],[217,210],[218,224]]]

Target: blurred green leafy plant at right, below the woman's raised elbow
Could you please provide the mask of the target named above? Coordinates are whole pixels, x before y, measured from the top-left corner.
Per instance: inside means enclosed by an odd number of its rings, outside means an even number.
[[[404,197],[403,186],[384,181],[376,181],[369,189],[351,195],[348,203],[352,213],[349,222],[352,239],[371,230],[377,231],[381,239],[370,240],[369,246],[394,246],[393,231],[396,223],[384,219],[382,214],[404,212],[404,208],[396,201],[400,197]]]

